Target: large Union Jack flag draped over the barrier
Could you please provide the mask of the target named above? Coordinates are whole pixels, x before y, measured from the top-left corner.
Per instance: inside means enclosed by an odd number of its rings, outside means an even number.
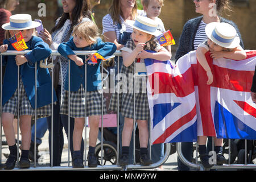
[[[256,51],[245,60],[212,60],[214,76],[197,64],[196,51],[171,61],[145,59],[151,143],[195,142],[197,136],[256,139],[256,105],[251,100]]]

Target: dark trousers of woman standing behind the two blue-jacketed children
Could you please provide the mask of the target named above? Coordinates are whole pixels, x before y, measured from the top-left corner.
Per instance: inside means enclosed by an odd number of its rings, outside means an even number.
[[[61,155],[64,145],[63,138],[63,127],[68,138],[68,115],[60,114],[60,95],[61,95],[61,86],[58,85],[56,90],[57,94],[57,103],[53,105],[53,166],[60,166]],[[49,129],[49,152],[50,152],[50,161],[51,159],[51,117],[47,118],[48,129]],[[71,151],[71,157],[73,158],[73,130],[75,125],[75,119],[70,118],[70,140],[69,146]],[[84,140],[81,142],[81,155],[84,156]]]

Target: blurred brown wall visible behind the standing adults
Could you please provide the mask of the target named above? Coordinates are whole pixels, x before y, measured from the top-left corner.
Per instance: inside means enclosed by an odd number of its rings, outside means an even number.
[[[38,16],[38,4],[46,3],[46,17]],[[241,2],[241,1],[240,1]],[[246,3],[247,2],[247,3]],[[109,6],[112,0],[101,0],[101,4],[94,7],[97,26],[102,30],[102,17],[108,14]],[[13,14],[28,13],[32,15],[32,19],[41,19],[47,30],[55,24],[55,20],[59,17],[57,0],[20,0],[20,5],[13,11]],[[256,49],[256,0],[247,0],[244,3],[234,3],[233,13],[230,16],[224,15],[224,18],[233,20],[240,29],[242,39],[246,49]],[[164,26],[172,28],[172,35],[176,44],[179,43],[179,37],[183,29],[184,23],[188,19],[200,16],[195,13],[195,5],[191,0],[165,0],[162,13],[159,18],[164,22]],[[177,48],[172,46],[172,49]]]

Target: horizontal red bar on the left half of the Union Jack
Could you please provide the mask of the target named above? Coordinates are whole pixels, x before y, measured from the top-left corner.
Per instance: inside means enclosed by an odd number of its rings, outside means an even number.
[[[159,82],[156,82],[159,86],[158,93],[175,93],[177,97],[185,97],[194,92],[192,72],[189,68],[185,73],[179,76],[171,77],[169,73],[154,72],[148,76],[150,82],[152,96],[157,94],[155,90],[155,75],[159,77]],[[155,90],[155,91],[154,91]]]

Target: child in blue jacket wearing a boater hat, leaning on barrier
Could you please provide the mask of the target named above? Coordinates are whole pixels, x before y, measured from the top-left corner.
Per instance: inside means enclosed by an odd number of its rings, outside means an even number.
[[[1,168],[13,169],[17,159],[17,146],[13,119],[20,116],[20,131],[22,134],[22,154],[20,156],[19,168],[29,168],[28,151],[31,141],[31,118],[35,115],[35,63],[46,59],[51,55],[51,49],[41,38],[33,36],[34,28],[40,23],[31,20],[31,15],[16,14],[10,16],[10,23],[3,24],[2,28],[14,36],[22,32],[27,49],[31,52],[25,55],[3,56],[3,65],[6,64],[6,72],[3,78],[3,99],[2,99],[2,124],[10,155]],[[0,47],[1,52],[15,51],[9,39],[3,41]],[[37,118],[51,115],[51,76],[46,68],[40,68],[37,64],[36,80],[36,113]],[[19,76],[18,76],[19,66]],[[18,90],[19,77],[19,90]],[[19,94],[19,101],[18,101]],[[54,101],[56,95],[54,94]],[[19,103],[19,108],[17,107]],[[18,113],[19,110],[19,113]]]

